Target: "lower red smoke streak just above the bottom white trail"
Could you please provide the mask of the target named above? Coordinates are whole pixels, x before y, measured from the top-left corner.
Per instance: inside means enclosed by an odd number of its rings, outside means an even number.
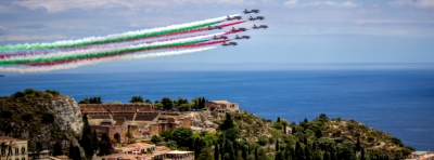
[[[175,50],[175,49],[190,49],[190,48],[200,48],[200,46],[207,46],[207,45],[214,45],[214,44],[218,44],[218,43],[222,43],[226,41],[230,41],[230,40],[218,40],[218,41],[210,41],[210,42],[203,42],[203,43],[196,43],[196,44],[188,44],[188,45],[180,45],[180,46],[171,46],[171,48],[164,48],[165,50],[169,49],[169,50]],[[163,50],[163,49],[154,49],[154,50]],[[152,51],[154,51],[152,50]],[[146,50],[146,51],[151,51],[151,50]],[[143,51],[140,51],[143,52]],[[131,53],[126,53],[123,55],[128,55],[128,54],[133,54],[136,52],[131,52]],[[82,61],[93,61],[93,59],[101,59],[101,58],[110,58],[110,57],[115,57],[115,56],[123,56],[123,55],[105,55],[105,56],[97,56],[97,57],[91,57],[91,58],[82,58],[82,59],[68,59],[68,61],[59,61],[59,62],[49,62],[49,63],[30,63],[27,64],[28,66],[33,66],[33,67],[40,67],[40,66],[55,66],[55,65],[63,65],[63,64],[69,64],[69,63],[78,63],[78,62],[82,62]]]

